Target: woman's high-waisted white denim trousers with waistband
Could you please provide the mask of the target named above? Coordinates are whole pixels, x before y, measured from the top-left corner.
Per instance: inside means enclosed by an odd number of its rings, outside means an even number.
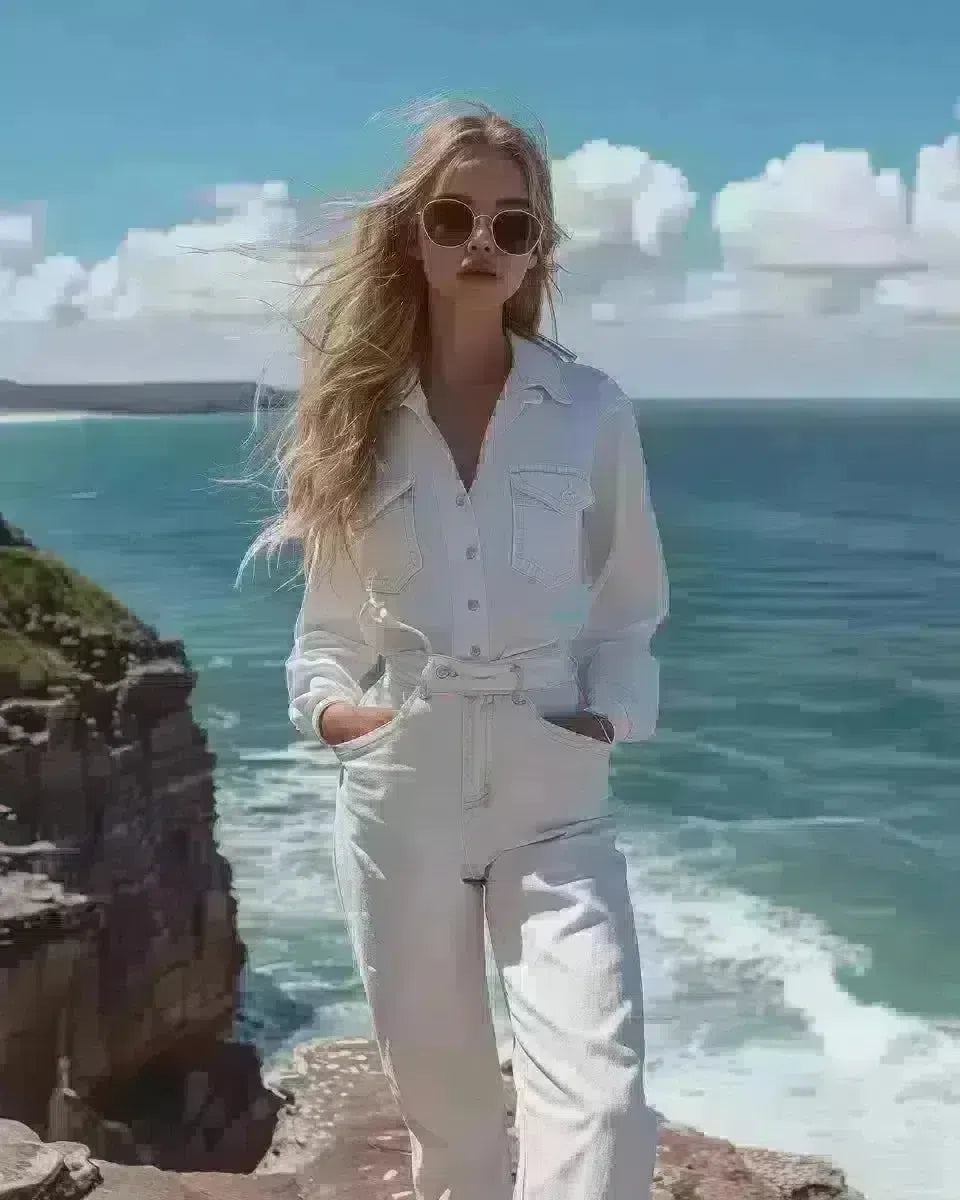
[[[648,1200],[656,1117],[610,746],[544,720],[535,697],[559,708],[576,685],[522,685],[536,656],[522,673],[402,658],[364,701],[396,715],[334,748],[334,858],[418,1200],[511,1194],[485,918],[514,1034],[516,1200]]]

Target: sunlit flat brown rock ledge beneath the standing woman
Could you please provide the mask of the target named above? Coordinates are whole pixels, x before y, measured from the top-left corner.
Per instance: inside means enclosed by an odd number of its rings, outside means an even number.
[[[504,1118],[516,1164],[515,1097],[510,1080],[504,1084]],[[305,1045],[274,1086],[286,1093],[287,1104],[269,1152],[250,1175],[116,1166],[91,1158],[83,1146],[44,1145],[25,1127],[0,1121],[0,1200],[83,1195],[95,1200],[413,1200],[407,1133],[372,1043],[347,1038]],[[17,1186],[19,1190],[13,1190]],[[665,1124],[653,1200],[863,1198],[823,1159],[733,1146]]]

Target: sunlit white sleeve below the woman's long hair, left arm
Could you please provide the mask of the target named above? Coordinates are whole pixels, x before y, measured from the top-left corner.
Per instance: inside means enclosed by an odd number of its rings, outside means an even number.
[[[377,650],[364,641],[358,623],[364,600],[360,577],[346,558],[304,588],[287,659],[287,694],[290,720],[307,737],[323,742],[323,709],[335,701],[356,704],[361,679],[377,664]]]

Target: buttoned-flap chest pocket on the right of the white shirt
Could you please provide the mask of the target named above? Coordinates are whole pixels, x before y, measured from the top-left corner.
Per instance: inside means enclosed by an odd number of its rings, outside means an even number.
[[[514,467],[510,498],[514,570],[547,587],[580,578],[581,514],[594,499],[588,480],[559,467]]]

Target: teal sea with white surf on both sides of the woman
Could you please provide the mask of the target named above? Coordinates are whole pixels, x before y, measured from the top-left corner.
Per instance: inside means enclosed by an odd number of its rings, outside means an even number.
[[[638,408],[672,583],[656,739],[611,788],[648,1091],[833,1157],[869,1200],[960,1192],[960,407]],[[330,870],[337,770],[299,743],[290,570],[235,571],[247,416],[0,424],[0,511],[199,673],[270,1062],[368,1033]]]

